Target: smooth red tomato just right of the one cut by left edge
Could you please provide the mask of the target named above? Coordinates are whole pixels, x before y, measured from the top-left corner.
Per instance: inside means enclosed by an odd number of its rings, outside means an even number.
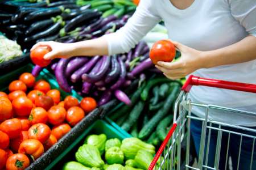
[[[13,100],[14,112],[17,116],[23,117],[30,115],[33,103],[26,96],[19,96]]]

